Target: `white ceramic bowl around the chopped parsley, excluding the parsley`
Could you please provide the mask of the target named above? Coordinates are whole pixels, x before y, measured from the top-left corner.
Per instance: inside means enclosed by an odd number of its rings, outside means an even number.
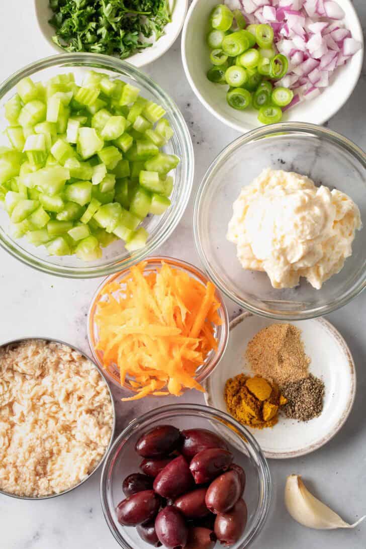
[[[55,29],[48,23],[53,14],[49,7],[49,0],[34,0],[34,3],[38,26],[44,38],[55,51],[65,53],[65,50],[57,46],[52,40]],[[172,20],[165,27],[165,35],[161,36],[150,48],[145,48],[142,52],[131,55],[125,61],[136,67],[142,67],[161,57],[173,45],[183,27],[188,9],[188,0],[169,0],[169,5],[172,11]]]

